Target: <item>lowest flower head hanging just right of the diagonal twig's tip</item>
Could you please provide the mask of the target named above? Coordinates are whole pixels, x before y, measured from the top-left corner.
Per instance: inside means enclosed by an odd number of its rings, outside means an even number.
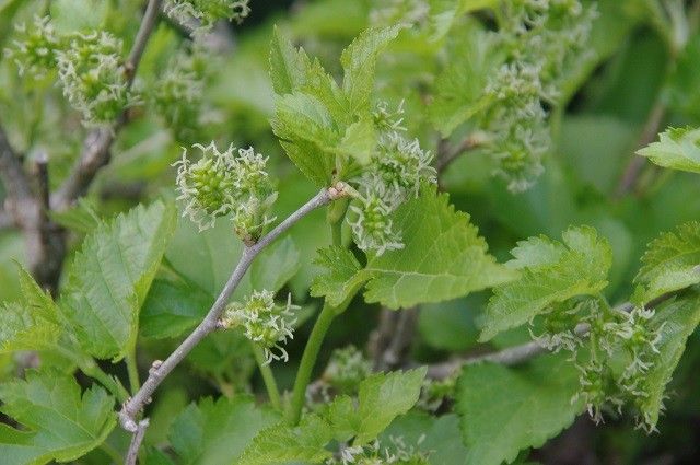
[[[377,256],[386,251],[404,248],[400,232],[396,231],[389,218],[393,209],[383,199],[382,191],[369,191],[360,199],[360,205],[350,209],[357,214],[348,220],[355,244],[362,251],[373,251]]]

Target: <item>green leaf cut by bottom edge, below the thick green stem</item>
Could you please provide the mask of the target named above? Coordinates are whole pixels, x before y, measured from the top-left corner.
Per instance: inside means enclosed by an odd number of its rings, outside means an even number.
[[[332,439],[326,421],[317,415],[302,418],[298,427],[284,422],[258,433],[237,465],[280,465],[288,462],[320,463],[331,456],[325,449]]]

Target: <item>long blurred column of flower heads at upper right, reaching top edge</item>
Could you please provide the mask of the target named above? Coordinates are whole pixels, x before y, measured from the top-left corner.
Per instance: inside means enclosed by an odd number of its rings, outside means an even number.
[[[522,191],[544,172],[551,146],[546,106],[557,104],[567,70],[585,58],[596,13],[579,0],[514,0],[502,9],[495,40],[506,58],[487,83],[480,126],[490,135],[485,149],[499,161],[497,174]]]

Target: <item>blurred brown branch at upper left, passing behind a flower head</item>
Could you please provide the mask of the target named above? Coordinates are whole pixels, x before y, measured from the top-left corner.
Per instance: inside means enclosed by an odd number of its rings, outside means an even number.
[[[163,0],[149,0],[145,8],[143,20],[125,65],[127,89],[130,89],[133,83],[136,71],[145,45],[153,33],[162,2]],[[67,209],[78,197],[88,191],[100,168],[109,162],[109,150],[115,135],[126,125],[127,120],[128,113],[125,109],[112,127],[95,129],[88,136],[80,158],[73,164],[68,178],[51,198],[54,209],[59,211]]]

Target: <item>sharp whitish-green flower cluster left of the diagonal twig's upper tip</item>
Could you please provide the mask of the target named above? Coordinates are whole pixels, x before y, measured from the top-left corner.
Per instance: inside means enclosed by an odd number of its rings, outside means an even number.
[[[199,225],[213,226],[217,218],[231,216],[235,233],[246,243],[255,243],[273,218],[267,212],[277,199],[266,171],[267,158],[248,149],[230,146],[221,152],[212,141],[192,146],[201,152],[197,162],[187,159],[187,149],[177,161],[178,200],[185,204],[183,216]]]

